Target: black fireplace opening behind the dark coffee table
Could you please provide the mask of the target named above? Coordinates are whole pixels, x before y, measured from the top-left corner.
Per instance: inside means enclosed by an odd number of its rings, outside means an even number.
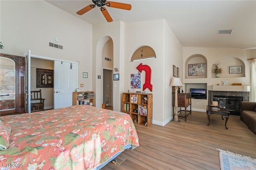
[[[214,95],[213,101],[218,101],[219,106],[224,106],[230,112],[230,115],[240,116],[240,101],[243,101],[242,96],[219,96]]]

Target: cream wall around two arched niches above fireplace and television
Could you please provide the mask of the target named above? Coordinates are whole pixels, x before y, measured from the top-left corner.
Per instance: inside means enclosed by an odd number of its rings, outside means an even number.
[[[250,85],[250,68],[248,58],[251,57],[251,53],[246,52],[243,49],[224,49],[224,48],[202,48],[202,47],[184,47],[183,54],[183,67],[184,67],[184,83],[206,83],[207,85],[216,85],[219,83],[222,85],[222,80],[227,79],[229,85],[232,83],[242,83],[242,85]],[[187,60],[191,55],[200,54],[206,58],[206,78],[186,78]],[[195,58],[193,62],[200,63],[202,58]],[[220,74],[220,78],[215,78],[213,73],[213,65],[220,63],[220,67],[223,69],[223,73]],[[230,74],[230,66],[242,65],[242,73]],[[196,105],[198,103],[198,105]],[[192,99],[192,110],[205,111],[208,100]]]

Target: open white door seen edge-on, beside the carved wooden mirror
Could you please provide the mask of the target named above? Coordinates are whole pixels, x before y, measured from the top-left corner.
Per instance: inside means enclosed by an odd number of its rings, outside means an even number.
[[[28,54],[26,55],[26,112],[31,113],[31,96],[30,96],[30,58],[31,51],[28,50]]]

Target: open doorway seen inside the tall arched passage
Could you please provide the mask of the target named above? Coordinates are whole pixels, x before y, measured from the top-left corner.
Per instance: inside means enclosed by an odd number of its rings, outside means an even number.
[[[103,103],[106,109],[113,110],[113,70],[103,69]]]

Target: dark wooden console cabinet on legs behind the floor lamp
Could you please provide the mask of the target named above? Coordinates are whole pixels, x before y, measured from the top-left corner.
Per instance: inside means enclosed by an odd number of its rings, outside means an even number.
[[[175,94],[172,94],[172,111],[174,112],[174,97]],[[190,110],[187,110],[187,108],[190,106]],[[185,118],[185,121],[187,121],[187,117],[190,114],[191,115],[191,93],[178,93],[178,107],[180,107],[180,111],[178,111],[178,117]],[[181,108],[184,107],[185,109],[182,110]],[[185,115],[179,115],[181,111],[185,112]]]

